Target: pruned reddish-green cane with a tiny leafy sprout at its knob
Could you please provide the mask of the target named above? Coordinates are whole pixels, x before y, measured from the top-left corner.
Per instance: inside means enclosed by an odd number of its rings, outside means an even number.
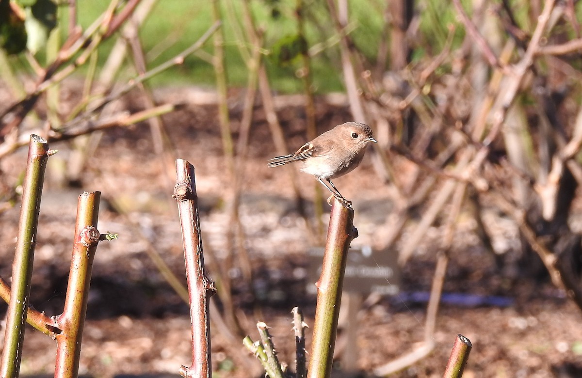
[[[65,308],[62,315],[56,319],[56,326],[61,332],[56,335],[55,378],[73,378],[79,372],[91,269],[100,240],[96,228],[100,197],[100,192],[84,192],[79,196],[77,204],[77,222]]]

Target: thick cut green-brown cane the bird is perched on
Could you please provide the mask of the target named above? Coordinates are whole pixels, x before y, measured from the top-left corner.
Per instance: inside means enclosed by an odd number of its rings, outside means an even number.
[[[308,378],[327,378],[331,375],[347,251],[353,238],[357,237],[353,219],[354,211],[333,198],[321,276],[315,283],[318,289],[317,307]]]

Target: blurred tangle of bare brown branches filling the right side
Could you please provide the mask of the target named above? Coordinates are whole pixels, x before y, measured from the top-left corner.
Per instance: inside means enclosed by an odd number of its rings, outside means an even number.
[[[378,227],[375,248],[398,245],[399,262],[405,264],[431,227],[440,224],[443,230],[424,344],[379,368],[379,375],[410,365],[434,347],[438,302],[463,211],[475,217],[482,244],[492,250],[484,204],[519,226],[521,261],[531,261],[527,251],[537,254],[553,283],[582,309],[582,272],[572,263],[581,251],[580,236],[568,223],[582,184],[582,110],[568,107],[581,88],[567,79],[580,77],[579,25],[567,2],[533,2],[527,20],[516,16],[510,2],[478,4],[466,9],[466,3],[453,0],[446,10],[455,23],[434,35],[420,33],[419,15],[387,6],[393,23],[388,28],[407,29],[400,44],[410,49],[407,56],[415,48],[424,51],[405,66],[390,65],[384,56],[365,58],[350,35],[339,43],[354,119],[371,124],[378,140],[390,138],[375,150],[374,160],[391,187],[395,211]],[[346,7],[345,1],[328,1],[338,35],[350,23],[342,11]],[[431,51],[427,40],[439,35],[442,49]],[[388,49],[381,45],[378,51]],[[421,219],[409,222],[419,208]],[[527,268],[520,269],[527,274]]]

